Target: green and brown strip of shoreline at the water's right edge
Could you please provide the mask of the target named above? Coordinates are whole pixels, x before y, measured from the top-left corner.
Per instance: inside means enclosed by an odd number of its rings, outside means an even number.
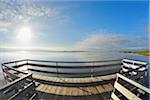
[[[120,51],[120,53],[132,53],[132,54],[140,54],[144,56],[150,56],[150,50],[141,50],[141,51]]]

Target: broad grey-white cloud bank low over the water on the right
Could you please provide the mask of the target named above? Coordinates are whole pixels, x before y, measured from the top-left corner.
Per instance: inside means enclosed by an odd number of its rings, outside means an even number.
[[[81,50],[122,50],[130,48],[148,48],[146,36],[118,35],[98,33],[90,35],[76,45]]]

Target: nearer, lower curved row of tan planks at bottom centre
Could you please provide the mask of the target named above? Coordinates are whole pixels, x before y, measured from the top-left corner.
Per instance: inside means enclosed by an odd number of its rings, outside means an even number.
[[[41,87],[41,85],[43,85]],[[66,96],[84,96],[84,95],[91,95],[91,94],[99,94],[111,91],[113,87],[105,87],[109,89],[104,89],[102,86],[96,87],[61,87],[61,86],[52,86],[52,85],[45,85],[41,84],[39,87],[36,88],[37,91],[41,91],[44,93],[56,94],[56,95],[66,95]],[[110,89],[111,88],[111,89]]]

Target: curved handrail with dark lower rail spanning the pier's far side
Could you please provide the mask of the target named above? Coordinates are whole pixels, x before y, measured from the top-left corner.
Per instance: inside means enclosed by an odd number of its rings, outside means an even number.
[[[23,64],[17,64],[18,62],[21,62],[21,61],[26,61],[25,63]],[[30,62],[31,61],[31,62]],[[32,62],[33,61],[33,62]],[[117,61],[114,63],[114,61]],[[119,62],[118,62],[119,61]],[[54,65],[48,65],[47,63],[46,64],[40,64],[40,63],[36,63],[36,62],[52,62],[54,63]],[[96,64],[96,62],[111,62],[112,64],[108,63],[108,64]],[[11,66],[11,67],[8,67],[7,64],[9,63],[16,63],[15,65]],[[61,65],[61,63],[88,63],[86,65]],[[14,70],[18,73],[22,73],[22,74],[27,74],[23,71],[19,71],[17,70],[16,68],[17,67],[20,67],[22,65],[31,65],[31,66],[42,66],[42,67],[48,67],[48,68],[55,68],[57,70],[57,72],[55,71],[52,71],[52,72],[48,72],[48,71],[40,71],[40,70],[35,70],[35,69],[29,69],[31,71],[37,71],[37,72],[44,72],[44,73],[50,73],[50,74],[71,74],[71,75],[79,75],[79,74],[83,74],[83,75],[89,75],[89,72],[80,72],[80,73],[77,73],[77,72],[59,72],[59,69],[91,69],[93,70],[94,68],[101,68],[101,67],[110,67],[110,66],[118,66],[118,65],[121,65],[121,60],[105,60],[105,61],[86,61],[86,62],[66,62],[66,61],[44,61],[44,60],[31,60],[31,59],[26,59],[26,60],[19,60],[19,61],[13,61],[13,62],[7,62],[7,63],[3,63],[2,66],[5,66],[6,68],[9,68],[11,70]],[[93,75],[95,73],[98,73],[98,72],[92,72],[91,71],[91,77],[93,77]]]

